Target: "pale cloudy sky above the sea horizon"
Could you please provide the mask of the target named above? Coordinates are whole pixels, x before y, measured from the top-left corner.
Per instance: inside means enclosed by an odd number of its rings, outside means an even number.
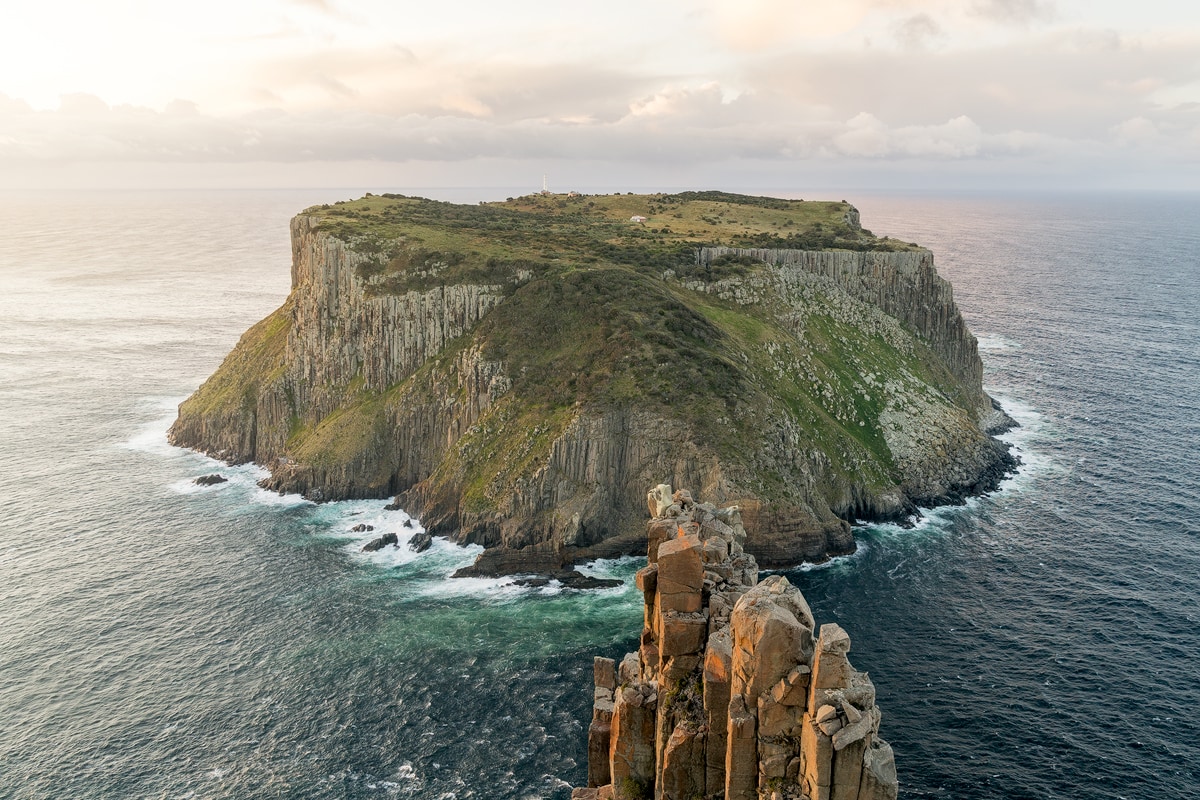
[[[40,0],[0,188],[1200,190],[1189,0]]]

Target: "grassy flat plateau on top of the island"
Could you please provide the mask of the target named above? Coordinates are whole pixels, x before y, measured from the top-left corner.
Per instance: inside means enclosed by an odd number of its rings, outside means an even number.
[[[372,291],[403,293],[454,283],[510,283],[518,273],[557,275],[620,265],[704,279],[754,265],[725,259],[697,271],[700,246],[899,249],[851,225],[846,203],[781,200],[724,192],[682,194],[530,194],[460,205],[398,194],[313,206],[318,229],[372,257],[361,267]],[[646,222],[631,222],[634,216]]]

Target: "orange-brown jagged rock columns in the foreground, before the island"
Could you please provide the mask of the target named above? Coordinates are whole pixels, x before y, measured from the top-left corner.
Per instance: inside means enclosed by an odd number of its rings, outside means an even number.
[[[648,498],[641,646],[596,657],[576,800],[895,800],[892,747],[850,637],[799,590],[758,583],[737,507]]]

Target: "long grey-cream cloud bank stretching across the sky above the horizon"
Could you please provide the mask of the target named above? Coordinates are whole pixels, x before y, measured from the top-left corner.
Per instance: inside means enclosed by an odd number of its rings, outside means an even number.
[[[186,101],[156,112],[92,96],[34,112],[0,96],[0,161],[559,158],[682,169],[730,160],[961,164],[1132,150],[1194,158],[1196,106],[1154,101],[1156,88],[1200,79],[1194,52],[1186,41],[1141,47],[1069,32],[974,53],[796,53],[745,70],[737,92],[586,64],[484,70],[386,48],[329,52],[252,76],[268,100],[318,98],[308,112],[278,102],[215,116]]]

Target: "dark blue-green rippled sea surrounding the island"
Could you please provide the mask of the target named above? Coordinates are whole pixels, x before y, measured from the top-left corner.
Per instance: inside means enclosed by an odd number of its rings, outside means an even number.
[[[606,590],[451,579],[476,549],[360,552],[420,530],[384,501],[269,493],[167,444],[286,297],[288,218],[362,192],[0,194],[0,798],[586,781],[636,559],[586,566],[626,579]],[[850,632],[901,796],[1200,796],[1200,197],[773,193],[932,248],[1020,423],[997,492],[786,572]]]

